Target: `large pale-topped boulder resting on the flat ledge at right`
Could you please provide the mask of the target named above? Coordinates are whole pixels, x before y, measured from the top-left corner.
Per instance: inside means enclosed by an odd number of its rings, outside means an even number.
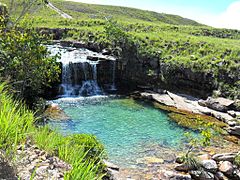
[[[230,107],[233,103],[234,101],[222,97],[220,98],[208,97],[207,100],[205,101],[205,105],[207,107],[221,112],[227,112],[228,110],[230,110]]]

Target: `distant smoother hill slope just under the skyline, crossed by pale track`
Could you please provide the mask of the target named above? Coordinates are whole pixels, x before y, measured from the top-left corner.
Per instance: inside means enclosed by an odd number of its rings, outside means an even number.
[[[2,2],[10,6],[9,0],[2,0]],[[19,1],[21,2],[21,1]],[[155,23],[168,23],[174,25],[194,25],[200,26],[201,24],[186,18],[182,18],[177,15],[170,15],[164,13],[156,13],[152,11],[144,11],[134,8],[117,7],[117,6],[104,6],[104,5],[90,5],[84,3],[76,3],[64,0],[50,0],[53,5],[63,10],[69,15],[73,16],[74,19],[103,19],[105,18],[116,18],[123,21],[147,21]],[[19,4],[19,6],[21,6]],[[59,16],[52,10],[46,9],[40,3],[36,3],[32,7],[31,11],[33,16],[42,17],[47,16],[48,18],[58,18]],[[15,11],[14,13],[17,13]]]

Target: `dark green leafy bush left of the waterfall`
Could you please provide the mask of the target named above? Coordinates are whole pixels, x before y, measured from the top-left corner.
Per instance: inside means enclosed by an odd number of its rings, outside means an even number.
[[[6,24],[0,25],[0,77],[9,81],[18,97],[30,102],[58,80],[57,56],[49,56],[44,38],[34,29]]]

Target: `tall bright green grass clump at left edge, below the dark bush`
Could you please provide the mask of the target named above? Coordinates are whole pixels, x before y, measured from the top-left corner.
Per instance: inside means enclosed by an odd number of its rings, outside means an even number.
[[[33,123],[34,114],[22,102],[13,100],[6,84],[0,84],[0,149],[14,155],[16,146],[33,130]]]

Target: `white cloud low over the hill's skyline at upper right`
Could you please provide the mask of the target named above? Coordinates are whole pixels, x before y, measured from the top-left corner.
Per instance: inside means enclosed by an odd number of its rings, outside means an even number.
[[[141,9],[148,9],[157,12],[165,12],[170,14],[178,14],[180,16],[186,17],[188,19],[196,20],[202,24],[217,28],[229,28],[229,29],[240,29],[240,0],[237,0],[230,4],[224,12],[221,14],[211,14],[211,12],[206,12],[200,9],[191,9],[186,7],[179,6],[164,6],[164,7],[153,7],[151,4],[146,4],[142,7],[142,4],[132,4],[131,1],[125,0],[115,0],[115,1],[106,1],[106,0],[66,0],[66,1],[75,1],[75,2],[84,2],[90,4],[113,4],[113,5],[125,5]],[[110,3],[111,2],[111,3]]]

